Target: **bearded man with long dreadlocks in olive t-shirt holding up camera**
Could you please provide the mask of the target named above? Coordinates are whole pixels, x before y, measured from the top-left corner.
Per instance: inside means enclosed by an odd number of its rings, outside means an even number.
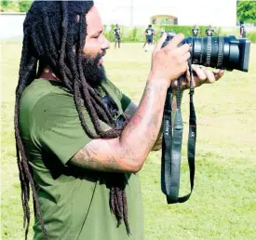
[[[32,190],[34,239],[143,239],[135,173],[159,149],[167,89],[187,69],[183,35],[159,40],[137,108],[105,76],[109,42],[92,1],[34,1],[23,31],[15,138],[26,238]],[[195,86],[222,76],[194,70]]]

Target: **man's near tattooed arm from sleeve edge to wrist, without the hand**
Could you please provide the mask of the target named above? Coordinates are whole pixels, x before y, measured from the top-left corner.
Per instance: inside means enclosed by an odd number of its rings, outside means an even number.
[[[70,164],[99,171],[138,172],[159,133],[167,88],[165,82],[148,81],[141,103],[121,136],[91,140]]]

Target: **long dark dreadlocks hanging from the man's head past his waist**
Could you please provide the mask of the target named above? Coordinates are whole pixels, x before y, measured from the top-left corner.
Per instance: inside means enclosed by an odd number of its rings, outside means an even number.
[[[34,1],[23,24],[24,36],[19,82],[16,88],[14,123],[25,239],[27,239],[30,225],[30,190],[33,193],[34,216],[40,221],[46,238],[49,239],[49,237],[39,206],[33,171],[29,166],[20,137],[20,97],[24,89],[43,73],[45,67],[49,67],[53,73],[61,77],[64,86],[74,94],[76,110],[88,136],[94,139],[116,138],[120,136],[122,130],[115,127],[111,113],[101,102],[101,97],[89,85],[83,72],[83,48],[87,35],[86,15],[92,6],[93,1]],[[75,51],[73,47],[75,47]],[[89,130],[82,107],[86,107],[96,135]],[[100,120],[111,126],[112,129],[103,131]],[[117,180],[113,180],[111,184],[110,208],[115,214],[117,225],[124,220],[129,234],[125,175],[113,175]]]

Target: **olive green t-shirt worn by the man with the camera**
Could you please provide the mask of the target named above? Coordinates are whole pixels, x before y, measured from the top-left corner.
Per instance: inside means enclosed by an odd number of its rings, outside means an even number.
[[[128,97],[109,80],[102,86],[98,92],[115,100],[119,113],[123,113],[130,102]],[[95,133],[86,108],[83,114],[88,128]],[[101,127],[106,127],[104,125],[101,122]],[[137,174],[126,174],[131,231],[128,235],[124,222],[117,227],[110,210],[106,173],[67,164],[92,139],[81,126],[74,96],[61,83],[36,79],[25,89],[20,100],[20,129],[49,239],[144,239]],[[111,178],[112,173],[107,174]],[[45,239],[37,219],[34,239]]]

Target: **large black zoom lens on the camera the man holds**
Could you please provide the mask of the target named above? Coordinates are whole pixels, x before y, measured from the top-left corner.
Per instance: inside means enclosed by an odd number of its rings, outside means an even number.
[[[167,40],[162,47],[165,47],[172,37],[173,33],[168,33]],[[188,37],[182,41],[182,44],[190,46],[193,64],[248,72],[250,41],[247,38],[236,39],[235,36]]]

